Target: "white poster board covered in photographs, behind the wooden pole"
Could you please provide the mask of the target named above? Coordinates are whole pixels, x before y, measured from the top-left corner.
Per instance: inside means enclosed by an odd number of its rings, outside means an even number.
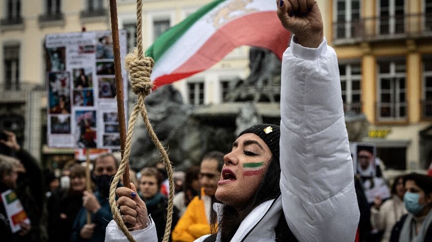
[[[127,94],[126,31],[119,41]],[[48,146],[120,149],[111,31],[47,35],[45,50]]]

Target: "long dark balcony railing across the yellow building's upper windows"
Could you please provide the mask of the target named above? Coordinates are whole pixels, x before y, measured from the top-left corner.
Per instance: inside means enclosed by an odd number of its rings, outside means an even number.
[[[335,44],[432,37],[432,13],[375,16],[333,23]]]

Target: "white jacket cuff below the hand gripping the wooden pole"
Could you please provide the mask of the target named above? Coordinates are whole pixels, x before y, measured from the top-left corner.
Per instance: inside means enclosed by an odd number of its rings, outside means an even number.
[[[157,242],[156,227],[151,216],[148,216],[147,227],[143,230],[130,231],[137,242]],[[106,227],[105,242],[129,242],[128,238],[117,227],[114,220]]]

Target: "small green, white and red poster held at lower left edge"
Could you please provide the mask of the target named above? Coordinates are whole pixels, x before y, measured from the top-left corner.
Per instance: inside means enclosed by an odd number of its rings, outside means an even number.
[[[21,222],[30,224],[30,219],[24,211],[21,201],[18,196],[12,190],[6,190],[1,193],[1,199],[3,201],[4,210],[6,211],[7,219],[9,220],[10,230],[12,233],[16,233],[21,230],[19,225]]]

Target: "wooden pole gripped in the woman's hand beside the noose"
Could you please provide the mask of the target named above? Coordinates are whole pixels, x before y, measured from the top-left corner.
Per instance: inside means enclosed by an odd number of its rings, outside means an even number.
[[[116,74],[116,95],[117,95],[117,112],[119,117],[120,128],[120,149],[122,153],[125,151],[126,146],[126,118],[125,106],[123,98],[123,78],[122,78],[122,62],[120,60],[120,44],[119,44],[119,26],[117,23],[117,2],[110,0],[110,14],[111,14],[111,33],[113,36],[113,50],[114,50],[114,68]],[[131,188],[129,185],[129,163],[126,163],[125,173],[123,174],[123,185]]]

